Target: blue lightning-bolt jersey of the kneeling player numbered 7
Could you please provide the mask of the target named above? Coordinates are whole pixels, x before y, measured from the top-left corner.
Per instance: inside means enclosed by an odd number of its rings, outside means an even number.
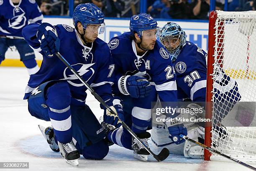
[[[69,83],[72,99],[84,104],[87,96],[87,88],[77,77],[59,60],[57,56],[49,57],[41,51],[40,43],[36,38],[38,23],[31,23],[26,26],[22,33],[28,44],[43,55],[43,62],[40,70],[31,75],[25,91],[24,99],[29,97],[40,84],[50,80],[64,80]],[[71,26],[56,25],[54,29],[60,39],[59,53],[68,61],[80,76],[95,90],[103,100],[108,100],[112,105],[112,89],[114,77],[114,63],[108,44],[97,38],[92,43],[92,48],[84,46],[77,31]],[[76,101],[76,102],[77,102]]]

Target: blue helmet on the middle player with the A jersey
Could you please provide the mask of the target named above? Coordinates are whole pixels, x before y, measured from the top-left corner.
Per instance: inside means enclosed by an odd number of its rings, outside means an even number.
[[[157,35],[159,36],[160,31],[159,27],[157,27],[157,22],[153,17],[146,13],[140,13],[138,15],[133,15],[130,20],[130,31],[131,34],[134,32],[138,34],[138,36],[142,36],[142,31],[157,29]]]

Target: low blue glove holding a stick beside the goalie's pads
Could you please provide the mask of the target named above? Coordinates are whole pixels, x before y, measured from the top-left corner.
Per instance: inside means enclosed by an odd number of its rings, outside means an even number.
[[[183,124],[170,126],[168,127],[168,130],[169,130],[169,138],[171,138],[175,144],[180,144],[185,141],[179,136],[180,134],[187,135],[187,128],[184,127]]]

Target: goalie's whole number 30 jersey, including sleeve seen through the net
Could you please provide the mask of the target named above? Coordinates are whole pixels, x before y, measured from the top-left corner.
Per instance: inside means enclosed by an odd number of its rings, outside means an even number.
[[[191,99],[193,102],[205,102],[207,78],[207,53],[194,43],[186,41],[177,60],[174,62],[177,74],[178,99]],[[238,85],[222,69],[215,73],[213,84],[215,101],[241,100]],[[218,95],[218,96],[216,96]]]

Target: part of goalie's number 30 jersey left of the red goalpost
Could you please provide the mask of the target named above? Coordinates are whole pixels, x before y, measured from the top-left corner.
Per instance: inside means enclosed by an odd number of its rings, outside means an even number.
[[[178,99],[190,98],[193,102],[205,102],[206,58],[205,51],[186,41],[173,63],[177,74]]]

